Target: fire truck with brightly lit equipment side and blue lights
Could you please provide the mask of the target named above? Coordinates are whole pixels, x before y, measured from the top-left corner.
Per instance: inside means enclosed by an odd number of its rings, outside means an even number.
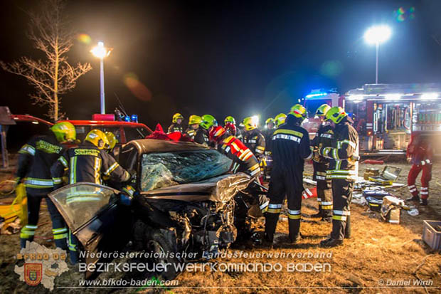
[[[344,107],[360,135],[362,154],[404,154],[416,136],[430,136],[435,154],[441,154],[441,84],[366,84],[345,95],[321,93],[326,94],[305,97],[309,114],[323,103]]]

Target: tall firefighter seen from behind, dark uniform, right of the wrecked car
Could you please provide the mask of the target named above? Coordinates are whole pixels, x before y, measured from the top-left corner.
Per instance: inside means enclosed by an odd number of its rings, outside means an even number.
[[[304,160],[312,158],[307,130],[300,127],[307,111],[294,105],[285,124],[272,135],[272,172],[270,180],[270,205],[265,215],[264,246],[272,246],[274,233],[282,210],[285,194],[288,201],[289,243],[300,238],[300,209],[302,206]]]

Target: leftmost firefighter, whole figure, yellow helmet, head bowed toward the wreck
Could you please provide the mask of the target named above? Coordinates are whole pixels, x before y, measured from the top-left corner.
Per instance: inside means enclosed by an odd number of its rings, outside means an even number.
[[[61,143],[73,142],[75,137],[75,127],[70,122],[58,122],[51,127],[51,132],[47,135],[33,137],[18,151],[16,182],[21,182],[26,177],[28,196],[28,224],[21,229],[21,248],[26,246],[26,241],[33,241],[38,226],[41,199],[44,198],[51,215],[55,246],[67,249],[68,229],[48,194],[53,190],[54,184],[51,166],[65,150]]]

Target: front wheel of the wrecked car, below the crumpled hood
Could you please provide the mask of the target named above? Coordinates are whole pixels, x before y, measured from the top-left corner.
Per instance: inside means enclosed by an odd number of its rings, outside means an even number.
[[[159,263],[168,264],[166,271],[157,272],[158,275],[161,275],[166,280],[173,280],[179,275],[179,271],[176,271],[174,266],[179,263],[179,260],[174,257],[176,256],[176,251],[161,232],[153,231],[149,235],[147,250],[148,252],[161,254],[161,256],[153,256],[152,260],[155,265]]]

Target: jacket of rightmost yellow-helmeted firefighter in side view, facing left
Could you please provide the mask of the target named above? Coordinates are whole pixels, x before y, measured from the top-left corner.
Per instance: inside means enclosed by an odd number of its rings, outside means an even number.
[[[349,122],[341,122],[334,130],[332,147],[320,149],[320,154],[329,158],[326,179],[355,181],[358,157],[358,133]]]

